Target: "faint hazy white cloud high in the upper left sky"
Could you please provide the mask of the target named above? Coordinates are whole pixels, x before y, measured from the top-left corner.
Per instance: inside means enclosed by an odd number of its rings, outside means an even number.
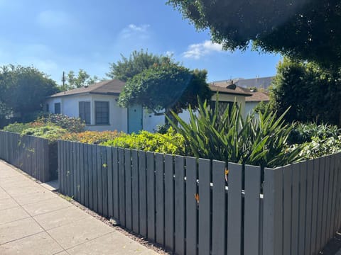
[[[45,28],[60,28],[74,26],[76,21],[64,11],[42,11],[36,21]]]

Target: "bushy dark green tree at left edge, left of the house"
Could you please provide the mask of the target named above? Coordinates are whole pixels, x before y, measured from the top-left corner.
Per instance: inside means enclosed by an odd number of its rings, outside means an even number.
[[[46,96],[58,91],[55,81],[34,67],[0,67],[0,111],[6,118],[16,113],[26,120],[30,113],[43,110]]]

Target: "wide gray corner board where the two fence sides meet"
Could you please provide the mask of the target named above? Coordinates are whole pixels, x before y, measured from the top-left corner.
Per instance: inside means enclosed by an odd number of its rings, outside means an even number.
[[[264,169],[264,255],[281,254],[282,244],[282,181],[283,167]]]

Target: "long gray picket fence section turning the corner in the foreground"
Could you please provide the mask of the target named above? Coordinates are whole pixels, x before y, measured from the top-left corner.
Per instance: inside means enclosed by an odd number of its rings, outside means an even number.
[[[60,192],[175,254],[318,254],[340,228],[341,154],[264,169],[58,141]],[[228,179],[227,179],[228,177]]]

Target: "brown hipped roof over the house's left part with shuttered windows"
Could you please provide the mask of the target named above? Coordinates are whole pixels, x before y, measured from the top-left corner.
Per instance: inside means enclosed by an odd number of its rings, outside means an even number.
[[[85,86],[82,88],[72,89],[70,91],[63,91],[48,98],[55,98],[60,96],[72,96],[79,94],[104,94],[104,95],[119,95],[124,87],[124,82],[117,79],[109,81],[101,81],[90,86]]]

